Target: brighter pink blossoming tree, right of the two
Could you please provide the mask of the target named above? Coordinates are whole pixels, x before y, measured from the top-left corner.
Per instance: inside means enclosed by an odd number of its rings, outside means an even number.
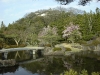
[[[74,43],[76,39],[81,38],[81,33],[79,32],[79,25],[74,25],[72,22],[69,24],[68,27],[65,27],[63,33],[63,38],[71,41]]]

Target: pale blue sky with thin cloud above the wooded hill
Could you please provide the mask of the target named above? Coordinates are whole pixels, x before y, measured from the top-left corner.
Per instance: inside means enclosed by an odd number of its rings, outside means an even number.
[[[90,10],[94,12],[97,7],[100,8],[100,2],[96,0],[86,6],[78,5],[77,1],[68,5],[61,5],[55,0],[0,0],[0,24],[3,21],[8,26],[9,23],[15,22],[31,12],[59,6],[64,8],[74,7],[87,12]]]

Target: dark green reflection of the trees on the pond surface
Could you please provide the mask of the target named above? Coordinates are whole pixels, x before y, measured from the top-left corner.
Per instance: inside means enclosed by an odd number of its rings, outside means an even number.
[[[53,75],[59,75],[62,72],[69,69],[73,69],[77,71],[78,73],[80,73],[83,69],[87,70],[89,74],[91,72],[99,72],[100,60],[97,60],[95,58],[95,54],[93,54],[93,52],[88,52],[88,53],[87,54],[85,53],[86,55],[84,55],[84,53],[79,53],[79,54],[72,54],[71,56],[44,56],[42,60],[23,63],[23,64],[20,64],[19,66],[24,68],[25,71],[31,72],[33,75],[35,74],[50,75],[51,73]],[[33,55],[31,57],[31,60],[35,60],[35,58],[39,58],[39,57],[35,57]],[[24,60],[24,61],[28,61],[28,60]],[[0,72],[2,70],[0,69]],[[12,72],[15,72],[15,71],[16,70]]]

